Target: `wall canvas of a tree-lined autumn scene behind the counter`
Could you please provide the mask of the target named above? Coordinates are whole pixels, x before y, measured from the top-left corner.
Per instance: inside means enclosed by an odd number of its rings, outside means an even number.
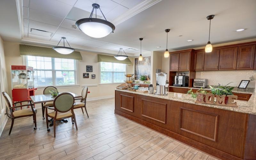
[[[147,80],[150,80],[150,56],[143,57],[142,61],[139,61],[139,58],[135,58],[134,61],[134,79],[139,80],[141,75],[145,75]]]

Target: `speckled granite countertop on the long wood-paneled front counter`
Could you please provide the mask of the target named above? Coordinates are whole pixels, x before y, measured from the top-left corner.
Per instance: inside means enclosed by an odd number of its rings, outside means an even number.
[[[116,91],[129,92],[129,93],[140,94],[144,96],[162,98],[166,100],[175,100],[179,102],[191,103],[191,104],[196,104],[196,105],[201,105],[206,107],[219,108],[219,109],[225,109],[225,110],[230,110],[235,112],[256,115],[256,97],[254,94],[252,94],[249,101],[235,100],[235,102],[237,102],[238,107],[229,107],[229,106],[195,103],[195,99],[193,99],[190,95],[183,94],[183,93],[167,92],[168,95],[156,95],[156,94],[141,93],[141,92],[134,92],[129,90],[120,90],[120,89],[116,89]]]

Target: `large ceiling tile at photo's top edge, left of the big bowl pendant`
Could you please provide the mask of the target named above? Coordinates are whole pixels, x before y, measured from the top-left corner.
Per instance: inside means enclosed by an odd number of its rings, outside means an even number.
[[[64,18],[72,6],[56,0],[32,0],[30,1],[30,8]]]

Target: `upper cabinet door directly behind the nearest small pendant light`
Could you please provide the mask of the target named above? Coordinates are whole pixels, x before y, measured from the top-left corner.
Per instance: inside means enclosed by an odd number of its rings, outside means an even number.
[[[220,50],[213,49],[204,54],[204,70],[219,70]]]

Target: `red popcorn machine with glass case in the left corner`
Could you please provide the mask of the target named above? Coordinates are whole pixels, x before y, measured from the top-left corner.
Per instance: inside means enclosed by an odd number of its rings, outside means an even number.
[[[11,66],[12,101],[29,100],[35,95],[33,67]]]

